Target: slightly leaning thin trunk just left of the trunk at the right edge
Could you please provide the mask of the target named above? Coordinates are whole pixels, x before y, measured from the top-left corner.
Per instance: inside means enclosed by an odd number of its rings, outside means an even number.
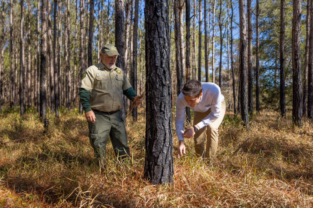
[[[306,3],[306,36],[305,36],[305,59],[303,66],[303,116],[306,113],[306,96],[307,96],[307,82],[308,82],[308,59],[309,59],[309,36],[310,36],[310,0]]]

